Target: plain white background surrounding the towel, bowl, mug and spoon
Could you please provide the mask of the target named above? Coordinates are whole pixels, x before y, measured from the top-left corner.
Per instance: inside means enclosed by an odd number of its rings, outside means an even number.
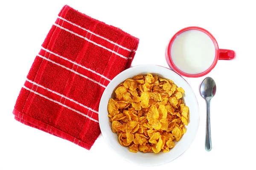
[[[189,149],[159,167],[122,160],[100,135],[90,150],[15,121],[12,110],[49,29],[65,5],[140,38],[132,65],[168,67],[165,48],[180,29],[200,26],[236,59],[218,61],[200,78],[184,77],[198,99],[200,125]],[[254,167],[256,10],[253,0],[5,0],[0,2],[0,170],[231,169]],[[211,101],[212,150],[204,149],[206,106],[199,94],[205,77],[217,92]]]

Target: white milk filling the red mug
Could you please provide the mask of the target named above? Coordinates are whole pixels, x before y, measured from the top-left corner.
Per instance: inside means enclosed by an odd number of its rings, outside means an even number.
[[[187,74],[206,71],[215,58],[215,47],[211,38],[202,31],[189,30],[174,40],[171,56],[178,69]]]

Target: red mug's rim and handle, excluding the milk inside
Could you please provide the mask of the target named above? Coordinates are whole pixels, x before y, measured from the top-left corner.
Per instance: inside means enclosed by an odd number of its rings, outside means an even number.
[[[205,71],[203,71],[201,73],[197,73],[197,74],[190,74],[190,73],[181,71],[175,65],[175,63],[174,63],[174,61],[172,59],[172,55],[171,55],[172,54],[171,49],[172,49],[173,42],[176,40],[176,38],[180,34],[184,33],[185,31],[189,31],[189,30],[197,30],[197,31],[201,31],[201,32],[207,34],[207,36],[212,40],[212,42],[214,44],[214,48],[215,48],[215,58],[214,58],[212,64],[210,65],[210,67],[207,70],[205,70]],[[212,34],[209,33],[209,31],[207,31],[206,29],[200,28],[200,27],[196,27],[196,26],[186,27],[186,28],[183,28],[180,31],[178,31],[172,37],[172,39],[169,41],[169,44],[166,47],[166,61],[167,61],[168,65],[169,65],[169,67],[171,67],[178,74],[186,76],[186,77],[201,77],[201,76],[204,76],[204,75],[208,74],[212,70],[212,68],[215,67],[215,65],[217,64],[218,59],[230,60],[230,59],[234,59],[234,57],[235,57],[235,52],[233,50],[219,49],[218,43],[215,40],[215,38],[212,36]]]

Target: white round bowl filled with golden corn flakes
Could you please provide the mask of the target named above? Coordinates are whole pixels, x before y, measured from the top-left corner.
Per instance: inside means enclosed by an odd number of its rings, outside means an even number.
[[[158,65],[118,74],[102,94],[99,125],[108,146],[134,164],[166,164],[195,139],[199,109],[190,85]]]

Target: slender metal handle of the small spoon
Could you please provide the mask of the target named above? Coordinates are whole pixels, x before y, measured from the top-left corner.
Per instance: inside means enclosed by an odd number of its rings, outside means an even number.
[[[211,124],[210,124],[210,100],[206,101],[207,114],[206,114],[206,134],[205,134],[205,149],[207,151],[212,150],[212,138],[211,138]]]

